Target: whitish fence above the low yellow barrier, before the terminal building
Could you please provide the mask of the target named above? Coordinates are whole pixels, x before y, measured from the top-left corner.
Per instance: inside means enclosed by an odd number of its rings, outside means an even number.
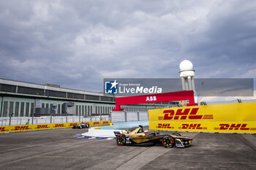
[[[26,125],[45,123],[71,123],[110,120],[108,115],[102,116],[42,116],[42,117],[0,117],[0,125]]]

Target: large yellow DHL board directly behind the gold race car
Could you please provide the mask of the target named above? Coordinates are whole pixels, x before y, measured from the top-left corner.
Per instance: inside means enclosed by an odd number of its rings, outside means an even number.
[[[151,109],[149,128],[256,134],[256,102]]]

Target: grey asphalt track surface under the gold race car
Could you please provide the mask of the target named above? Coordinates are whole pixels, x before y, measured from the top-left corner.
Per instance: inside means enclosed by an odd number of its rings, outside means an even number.
[[[184,149],[79,139],[85,129],[0,134],[0,169],[256,169],[256,135],[181,133]],[[165,132],[168,133],[168,132]]]

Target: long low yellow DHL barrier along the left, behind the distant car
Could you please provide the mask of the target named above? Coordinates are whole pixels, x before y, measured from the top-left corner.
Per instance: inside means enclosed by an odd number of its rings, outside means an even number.
[[[0,126],[0,134],[18,131],[36,131],[42,129],[53,129],[53,128],[71,128],[73,125],[78,125],[81,122],[75,123],[49,123],[49,124],[36,124],[36,125],[5,125]],[[84,122],[89,123],[89,125],[110,125],[110,121],[94,121],[94,122]]]

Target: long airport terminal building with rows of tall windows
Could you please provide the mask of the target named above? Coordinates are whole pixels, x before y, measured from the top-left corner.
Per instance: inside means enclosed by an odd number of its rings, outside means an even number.
[[[115,108],[116,96],[85,90],[61,88],[60,85],[38,85],[0,79],[0,117],[31,117],[50,115],[109,115]],[[122,106],[127,112],[175,107],[177,102]]]

